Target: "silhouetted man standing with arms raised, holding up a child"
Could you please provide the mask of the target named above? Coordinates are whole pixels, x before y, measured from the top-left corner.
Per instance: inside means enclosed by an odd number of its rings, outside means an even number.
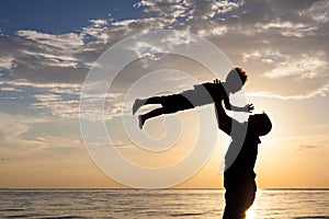
[[[216,83],[216,82],[215,82]],[[252,205],[257,191],[253,172],[260,136],[270,132],[272,124],[266,114],[250,115],[248,123],[239,123],[229,117],[222,107],[220,101],[215,101],[219,129],[231,136],[231,142],[225,155],[224,219],[243,219],[246,211]],[[234,128],[232,128],[234,127]],[[241,135],[247,134],[245,141]],[[242,143],[242,146],[241,146]]]

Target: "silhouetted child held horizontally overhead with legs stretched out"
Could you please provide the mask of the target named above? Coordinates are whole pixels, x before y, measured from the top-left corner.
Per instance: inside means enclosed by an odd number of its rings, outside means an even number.
[[[196,106],[214,103],[214,100],[219,100],[226,110],[235,112],[251,112],[252,104],[247,104],[243,107],[230,105],[228,95],[241,90],[247,81],[247,73],[241,68],[230,70],[225,82],[219,82],[218,79],[214,83],[202,83],[194,85],[193,90],[183,91],[179,94],[152,96],[149,99],[136,99],[133,105],[133,114],[141,106],[148,104],[161,104],[162,107],[152,110],[149,113],[138,116],[139,128],[141,129],[145,122],[149,118],[157,117],[162,114],[171,114],[179,111],[194,108]]]

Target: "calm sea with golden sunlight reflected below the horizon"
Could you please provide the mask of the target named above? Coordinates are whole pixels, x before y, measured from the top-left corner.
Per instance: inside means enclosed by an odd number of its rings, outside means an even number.
[[[224,189],[0,189],[0,218],[222,218]],[[329,189],[259,189],[247,219],[329,219]]]

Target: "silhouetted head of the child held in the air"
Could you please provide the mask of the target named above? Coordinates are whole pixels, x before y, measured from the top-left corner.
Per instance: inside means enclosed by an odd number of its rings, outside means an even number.
[[[226,77],[226,83],[228,84],[229,92],[235,93],[245,85],[248,76],[241,68],[234,68]]]

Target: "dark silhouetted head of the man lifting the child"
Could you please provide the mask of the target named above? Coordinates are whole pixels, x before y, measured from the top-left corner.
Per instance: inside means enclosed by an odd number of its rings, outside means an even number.
[[[249,116],[248,123],[257,136],[265,136],[272,129],[272,123],[265,113]]]

